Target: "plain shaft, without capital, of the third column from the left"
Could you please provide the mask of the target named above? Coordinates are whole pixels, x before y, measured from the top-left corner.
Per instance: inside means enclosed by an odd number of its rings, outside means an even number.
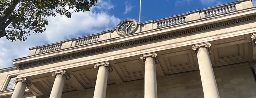
[[[100,66],[97,74],[97,80],[93,98],[105,98],[108,80],[108,67]]]

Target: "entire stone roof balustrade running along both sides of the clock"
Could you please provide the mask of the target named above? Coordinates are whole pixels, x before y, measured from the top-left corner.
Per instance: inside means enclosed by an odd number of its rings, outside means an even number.
[[[246,8],[253,7],[251,0],[239,0],[233,3],[218,5],[215,7],[194,10],[185,14],[170,16],[163,19],[149,20],[143,23],[138,23],[138,30],[135,33],[148,31],[153,29],[175,26],[178,24],[188,23],[193,20],[211,18],[217,15],[229,14],[231,12],[240,11]],[[30,48],[29,56],[41,53],[48,53],[56,50],[71,48],[75,46],[90,45],[96,42],[105,41],[111,38],[118,38],[115,29],[106,30],[101,33],[88,35],[79,38],[67,39],[61,42],[56,42],[49,45]]]

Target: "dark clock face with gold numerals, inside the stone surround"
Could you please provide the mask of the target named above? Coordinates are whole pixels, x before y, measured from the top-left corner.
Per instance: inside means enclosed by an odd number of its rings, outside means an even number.
[[[136,25],[134,22],[126,22],[123,23],[122,26],[119,27],[118,31],[120,34],[129,34],[135,29]]]

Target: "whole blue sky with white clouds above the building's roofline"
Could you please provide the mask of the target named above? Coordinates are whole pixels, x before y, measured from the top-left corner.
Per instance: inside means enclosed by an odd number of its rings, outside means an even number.
[[[238,0],[141,0],[141,22]],[[253,0],[254,6],[256,0]],[[127,18],[139,21],[140,0],[99,0],[89,12],[73,13],[71,18],[49,18],[42,34],[31,34],[27,41],[11,42],[0,38],[0,69],[14,66],[13,59],[26,57],[29,48],[113,29]]]

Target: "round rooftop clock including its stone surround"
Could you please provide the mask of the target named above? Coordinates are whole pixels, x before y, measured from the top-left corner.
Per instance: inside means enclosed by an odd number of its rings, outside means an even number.
[[[118,24],[116,32],[119,35],[127,35],[134,33],[137,30],[137,21],[134,19],[126,19]]]

